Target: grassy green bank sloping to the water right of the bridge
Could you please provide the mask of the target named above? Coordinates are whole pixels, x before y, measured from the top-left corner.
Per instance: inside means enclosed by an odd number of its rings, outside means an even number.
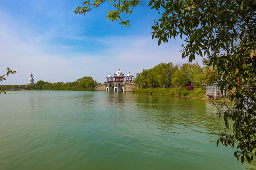
[[[134,90],[134,93],[146,93],[146,94],[157,94],[157,95],[168,95],[178,97],[197,97],[205,98],[205,87],[196,88],[194,90],[186,90],[183,87],[170,87],[170,88],[142,88],[139,87]]]

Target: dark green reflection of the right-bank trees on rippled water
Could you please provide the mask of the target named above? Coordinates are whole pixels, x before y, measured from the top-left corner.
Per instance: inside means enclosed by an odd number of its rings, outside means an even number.
[[[221,121],[216,121],[216,108],[207,101],[165,96],[159,99],[155,95],[142,95],[137,96],[136,103],[137,110],[146,110],[141,114],[146,122],[156,126],[182,127],[180,133],[183,129],[196,130],[197,127],[205,128],[204,132],[223,127]]]

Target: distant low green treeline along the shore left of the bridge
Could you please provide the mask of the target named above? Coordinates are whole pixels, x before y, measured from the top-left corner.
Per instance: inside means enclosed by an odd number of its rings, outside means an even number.
[[[75,82],[58,82],[49,83],[43,80],[37,81],[34,85],[0,85],[0,89],[34,89],[34,90],[94,90],[94,87],[101,85],[97,81],[94,81],[91,76],[84,76]]]

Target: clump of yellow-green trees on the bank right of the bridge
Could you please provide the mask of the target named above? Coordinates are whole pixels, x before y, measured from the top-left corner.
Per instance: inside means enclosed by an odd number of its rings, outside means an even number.
[[[184,63],[173,64],[160,63],[154,68],[143,69],[141,73],[136,74],[134,82],[140,87],[174,87],[175,85],[184,85],[185,83],[194,84],[194,86],[200,87],[201,82],[204,83],[205,79],[202,75],[206,70],[209,70],[208,66],[201,67],[196,63]],[[214,71],[213,71],[214,72]],[[215,75],[211,78],[213,83],[216,81]],[[212,83],[211,82],[211,83]]]

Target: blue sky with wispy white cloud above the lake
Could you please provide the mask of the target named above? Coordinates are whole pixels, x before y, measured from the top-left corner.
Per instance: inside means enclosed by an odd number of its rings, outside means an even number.
[[[157,12],[134,8],[130,26],[107,19],[110,3],[86,16],[74,14],[82,0],[0,0],[0,75],[9,67],[17,73],[1,85],[28,84],[33,73],[39,80],[73,82],[91,76],[103,83],[106,76],[122,71],[133,76],[161,62],[185,63],[183,40],[157,45],[152,40]],[[201,63],[201,57],[198,62]]]

